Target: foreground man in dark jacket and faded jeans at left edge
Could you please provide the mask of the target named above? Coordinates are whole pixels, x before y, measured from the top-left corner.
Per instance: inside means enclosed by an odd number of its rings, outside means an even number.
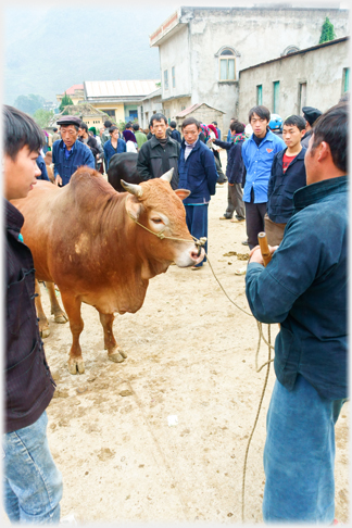
[[[60,520],[62,477],[50,453],[46,408],[54,381],[46,360],[35,307],[35,269],[21,235],[24,217],[10,200],[25,198],[37,183],[40,128],[28,115],[3,108],[7,339],[5,419],[2,436],[3,501],[13,524]]]

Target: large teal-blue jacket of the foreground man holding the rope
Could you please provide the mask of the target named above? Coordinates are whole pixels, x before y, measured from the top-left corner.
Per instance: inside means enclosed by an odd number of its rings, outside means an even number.
[[[262,323],[280,323],[274,367],[288,390],[301,374],[323,398],[348,397],[348,177],[293,194],[294,213],[264,268],[248,265],[246,293]]]

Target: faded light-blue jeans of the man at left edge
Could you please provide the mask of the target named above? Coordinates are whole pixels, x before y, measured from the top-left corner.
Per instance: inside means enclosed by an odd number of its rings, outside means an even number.
[[[60,521],[62,477],[50,453],[47,413],[2,436],[3,501],[11,523]]]

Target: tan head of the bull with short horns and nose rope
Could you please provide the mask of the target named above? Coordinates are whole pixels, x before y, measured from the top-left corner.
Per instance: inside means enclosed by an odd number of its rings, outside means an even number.
[[[201,262],[204,257],[204,251],[202,250],[200,256],[198,255],[198,249],[186,226],[186,213],[181,200],[185,200],[190,191],[187,189],[173,191],[169,185],[165,186],[160,181],[169,184],[173,173],[174,168],[167,171],[160,178],[141,185],[127,184],[124,180],[121,180],[121,185],[130,194],[126,198],[125,208],[135,222],[140,222],[142,226],[146,226],[155,235],[163,232],[167,237],[176,239],[161,241],[165,249],[165,252],[162,251],[162,248],[159,250],[160,255],[163,254],[162,259],[167,259],[168,264],[174,261],[179,267],[187,267]],[[178,198],[175,197],[175,193]],[[141,216],[143,216],[142,219]],[[166,257],[166,253],[172,254],[172,257]]]

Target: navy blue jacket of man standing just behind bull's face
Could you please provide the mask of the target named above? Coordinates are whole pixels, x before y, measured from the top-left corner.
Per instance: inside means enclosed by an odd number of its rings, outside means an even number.
[[[215,194],[218,178],[214,154],[205,143],[198,139],[185,161],[185,148],[186,143],[183,139],[178,159],[178,189],[191,191],[190,196],[184,200],[184,204],[208,203],[210,197]]]

